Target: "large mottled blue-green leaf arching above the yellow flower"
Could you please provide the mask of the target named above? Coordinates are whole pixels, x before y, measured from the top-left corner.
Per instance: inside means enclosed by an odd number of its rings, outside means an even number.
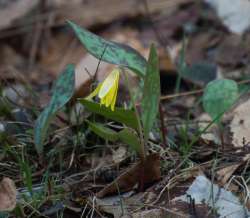
[[[68,23],[93,56],[102,61],[130,68],[139,76],[145,75],[147,61],[135,49],[121,43],[104,40],[71,21]]]

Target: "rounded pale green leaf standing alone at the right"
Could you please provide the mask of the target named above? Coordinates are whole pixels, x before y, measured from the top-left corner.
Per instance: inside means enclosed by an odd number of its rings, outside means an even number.
[[[211,81],[207,84],[203,94],[204,110],[212,119],[216,119],[235,103],[238,95],[238,85],[235,81],[229,79]]]

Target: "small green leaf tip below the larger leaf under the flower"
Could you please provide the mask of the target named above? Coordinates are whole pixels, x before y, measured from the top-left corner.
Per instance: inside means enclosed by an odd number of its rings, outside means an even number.
[[[89,124],[89,128],[98,136],[100,136],[103,139],[115,142],[118,139],[117,132],[104,126],[100,123],[93,123],[90,121],[87,121]]]

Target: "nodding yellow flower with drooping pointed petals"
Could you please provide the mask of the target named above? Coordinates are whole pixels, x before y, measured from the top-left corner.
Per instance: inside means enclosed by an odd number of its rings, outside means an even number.
[[[92,99],[98,95],[101,105],[104,104],[106,107],[110,106],[111,110],[114,111],[119,85],[119,76],[119,69],[114,69],[107,76],[107,78],[96,87],[96,89],[87,97],[87,99]]]

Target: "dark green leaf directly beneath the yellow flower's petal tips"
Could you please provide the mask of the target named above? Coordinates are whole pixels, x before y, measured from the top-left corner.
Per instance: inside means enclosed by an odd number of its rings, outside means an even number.
[[[133,129],[137,129],[137,120],[135,113],[131,110],[125,110],[123,108],[115,108],[114,111],[112,111],[110,108],[107,108],[105,106],[101,106],[98,103],[81,99],[80,102],[87,108],[89,111],[102,115],[108,119],[123,123]]]

